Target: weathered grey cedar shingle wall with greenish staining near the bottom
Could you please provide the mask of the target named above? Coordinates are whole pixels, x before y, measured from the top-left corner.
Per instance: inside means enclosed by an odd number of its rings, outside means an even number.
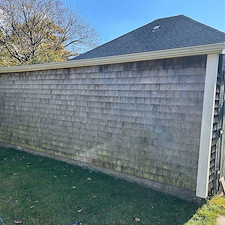
[[[0,142],[194,190],[206,56],[0,74]]]

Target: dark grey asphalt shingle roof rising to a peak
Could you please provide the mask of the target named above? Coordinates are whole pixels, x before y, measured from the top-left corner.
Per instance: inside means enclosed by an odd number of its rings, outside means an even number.
[[[155,26],[159,31],[153,32]],[[225,42],[225,33],[184,15],[157,19],[74,59],[89,59]]]

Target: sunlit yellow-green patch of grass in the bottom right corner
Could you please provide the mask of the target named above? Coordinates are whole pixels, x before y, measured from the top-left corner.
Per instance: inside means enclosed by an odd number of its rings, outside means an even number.
[[[225,216],[225,198],[221,196],[209,200],[185,225],[216,225],[218,215]]]

